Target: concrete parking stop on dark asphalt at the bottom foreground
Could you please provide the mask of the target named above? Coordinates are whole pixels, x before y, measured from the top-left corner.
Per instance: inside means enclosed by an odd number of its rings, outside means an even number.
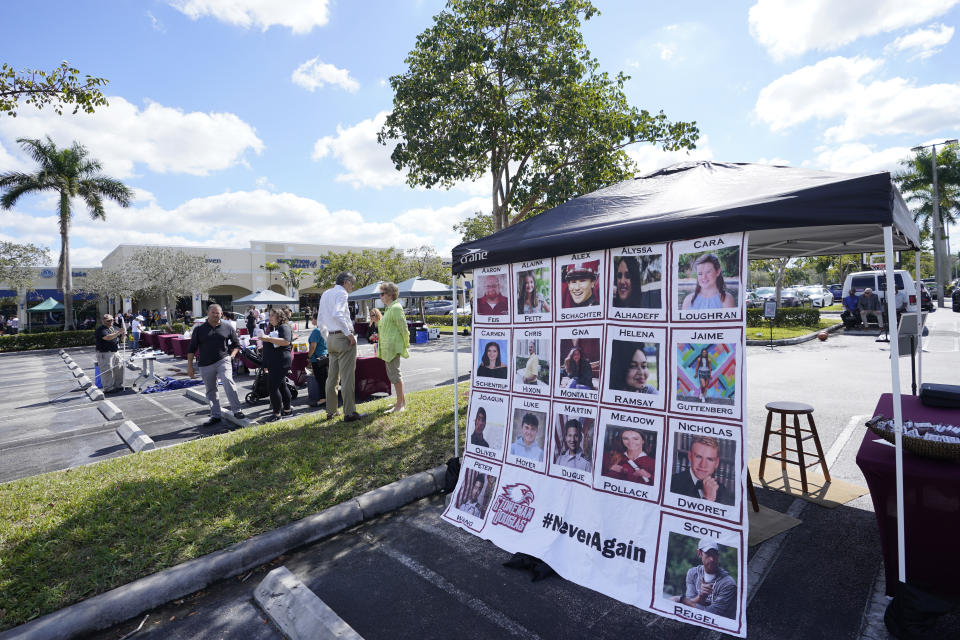
[[[286,567],[268,573],[253,599],[291,640],[363,640]]]

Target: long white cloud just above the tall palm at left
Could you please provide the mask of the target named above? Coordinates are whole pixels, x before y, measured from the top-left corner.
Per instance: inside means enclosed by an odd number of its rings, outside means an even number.
[[[140,164],[157,173],[207,175],[242,163],[247,149],[264,148],[254,128],[232,113],[186,113],[156,102],[138,109],[116,96],[109,101],[93,114],[31,110],[4,118],[0,141],[10,149],[19,137],[50,135],[59,146],[77,141],[115,178],[130,177]]]

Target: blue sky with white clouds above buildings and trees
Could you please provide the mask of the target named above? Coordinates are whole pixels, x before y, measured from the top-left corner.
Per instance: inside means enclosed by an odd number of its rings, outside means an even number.
[[[596,0],[583,27],[631,103],[696,120],[698,149],[637,145],[643,170],[684,159],[893,169],[960,137],[960,0]],[[252,239],[446,252],[489,210],[486,183],[411,189],[375,142],[435,0],[5,3],[2,60],[68,60],[110,81],[110,106],[0,119],[0,171],[29,170],[18,137],[78,140],[137,193],[107,222],[75,214],[73,262],[117,244],[246,247]],[[279,8],[279,9],[278,9]],[[56,16],[55,19],[52,17]],[[59,246],[55,201],[0,213],[0,238]],[[954,234],[955,237],[956,233]],[[954,243],[956,244],[956,243]]]

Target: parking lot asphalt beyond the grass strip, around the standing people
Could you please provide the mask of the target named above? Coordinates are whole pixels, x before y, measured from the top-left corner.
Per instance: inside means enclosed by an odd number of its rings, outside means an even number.
[[[464,375],[469,369],[470,341],[461,342]],[[361,345],[361,353],[372,349]],[[94,379],[93,347],[68,349],[73,360]],[[404,378],[409,391],[419,391],[453,382],[451,354],[453,340],[442,337],[424,345],[413,345],[411,357],[404,363]],[[161,356],[156,373],[185,379],[186,361]],[[125,370],[130,385],[136,371]],[[253,385],[253,375],[236,377],[241,400]],[[116,434],[122,420],[107,420],[78,388],[76,378],[67,369],[57,351],[0,354],[0,482],[95,463],[126,455],[131,451]],[[202,390],[202,385],[199,387]],[[187,440],[224,433],[233,428],[227,422],[216,427],[200,426],[209,411],[205,403],[186,396],[184,390],[152,394],[126,391],[107,396],[123,412],[123,420],[132,420],[158,446],[171,446]],[[221,402],[225,403],[221,393]],[[318,411],[307,406],[306,389],[293,401],[295,413]],[[224,404],[226,410],[226,405]],[[269,402],[244,404],[244,413],[252,419],[265,418]],[[322,409],[319,409],[322,410]],[[363,411],[362,404],[360,411]]]

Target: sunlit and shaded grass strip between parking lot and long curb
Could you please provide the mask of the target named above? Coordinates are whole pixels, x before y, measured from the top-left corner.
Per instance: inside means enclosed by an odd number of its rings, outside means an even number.
[[[377,400],[359,422],[320,411],[0,484],[0,630],[443,464],[452,391],[411,393],[396,415]]]

